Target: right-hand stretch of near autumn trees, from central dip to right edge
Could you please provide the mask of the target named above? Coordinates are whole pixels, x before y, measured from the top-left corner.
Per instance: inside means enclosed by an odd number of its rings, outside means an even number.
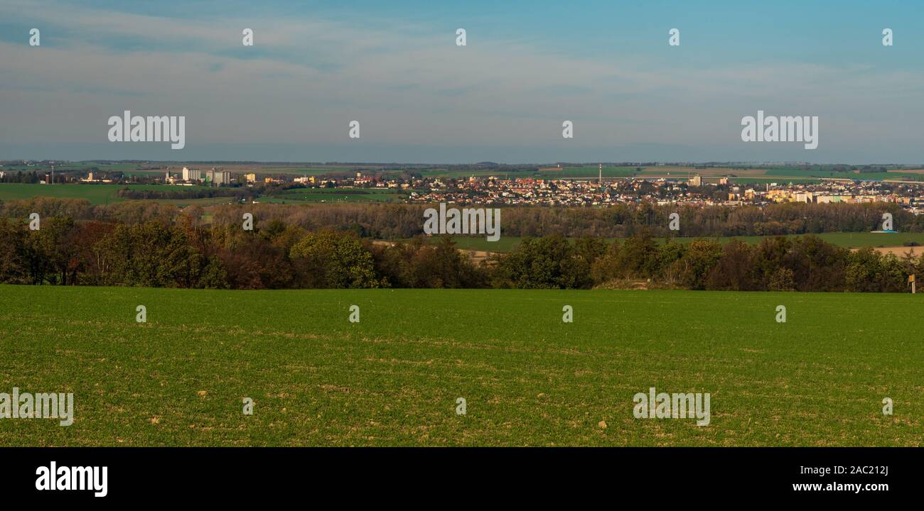
[[[605,244],[548,236],[499,258],[501,284],[517,288],[626,287],[642,283],[712,291],[908,291],[924,255],[851,251],[811,234],[760,244],[699,239],[658,244],[648,232]]]

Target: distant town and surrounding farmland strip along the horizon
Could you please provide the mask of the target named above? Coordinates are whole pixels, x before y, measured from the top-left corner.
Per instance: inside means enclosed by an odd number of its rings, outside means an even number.
[[[391,193],[395,201],[417,204],[594,207],[644,201],[692,206],[886,202],[915,215],[924,211],[924,170],[900,166],[618,163],[605,168],[598,164],[595,169],[588,164],[478,163],[434,169],[344,163],[306,166],[303,170],[299,174],[298,166],[270,164],[163,167],[5,161],[0,165],[0,182],[206,186],[221,187],[226,195],[237,188],[239,202],[295,199],[299,190],[317,190],[334,196],[371,196],[371,192],[381,191]]]

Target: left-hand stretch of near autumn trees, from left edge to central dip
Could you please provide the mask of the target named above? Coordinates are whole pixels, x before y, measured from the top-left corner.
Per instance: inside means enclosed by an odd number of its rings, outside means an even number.
[[[448,239],[374,244],[352,232],[308,232],[279,220],[253,231],[188,216],[127,223],[51,217],[31,231],[0,219],[0,282],[285,289],[483,287]]]

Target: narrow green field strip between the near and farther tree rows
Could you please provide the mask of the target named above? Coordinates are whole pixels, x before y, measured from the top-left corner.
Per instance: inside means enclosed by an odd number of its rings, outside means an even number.
[[[804,234],[789,234],[787,237],[792,238],[802,235]],[[838,246],[844,246],[847,248],[860,248],[864,246],[901,246],[906,242],[915,242],[921,246],[924,246],[924,232],[821,232],[820,234],[815,235],[830,244],[836,244]],[[736,239],[748,244],[759,244],[760,241],[764,238],[772,237],[773,236],[694,236],[676,237],[673,239],[675,242],[685,244],[699,239],[717,240],[722,244],[726,244],[729,241]],[[510,252],[520,244],[522,239],[523,238],[519,236],[501,236],[501,239],[497,240],[496,242],[489,242],[484,238],[484,236],[453,237],[453,241],[456,242],[456,247],[458,248],[463,250],[485,250],[488,252]],[[612,243],[613,240],[614,238],[607,238],[606,243]],[[665,240],[663,238],[659,238],[658,241],[663,243]]]

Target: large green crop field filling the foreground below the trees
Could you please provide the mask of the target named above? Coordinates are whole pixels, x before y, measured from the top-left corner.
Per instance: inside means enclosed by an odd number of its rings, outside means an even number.
[[[0,391],[73,392],[76,409],[67,427],[0,420],[0,446],[924,442],[911,294],[0,286],[0,301]],[[710,424],[634,418],[651,386],[709,393]]]

